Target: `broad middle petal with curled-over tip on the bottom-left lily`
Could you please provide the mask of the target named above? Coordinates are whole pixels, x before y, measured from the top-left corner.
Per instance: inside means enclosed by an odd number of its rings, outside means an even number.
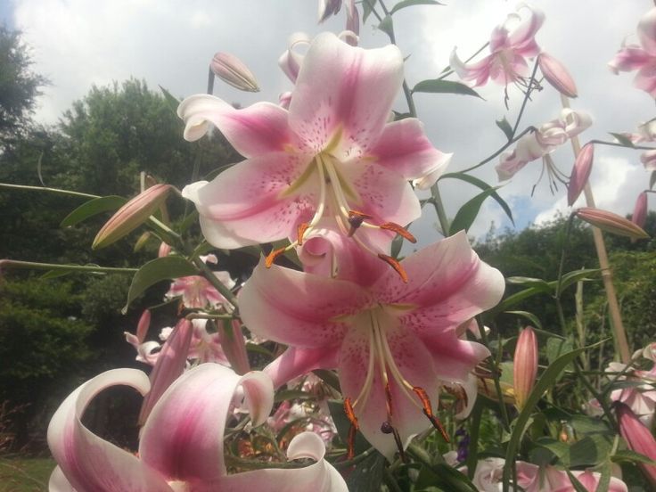
[[[217,364],[184,373],[160,398],[143,427],[139,455],[168,480],[211,483],[225,476],[223,436],[234,393],[242,385],[253,424],[274,403],[273,384],[259,372],[238,376]]]

